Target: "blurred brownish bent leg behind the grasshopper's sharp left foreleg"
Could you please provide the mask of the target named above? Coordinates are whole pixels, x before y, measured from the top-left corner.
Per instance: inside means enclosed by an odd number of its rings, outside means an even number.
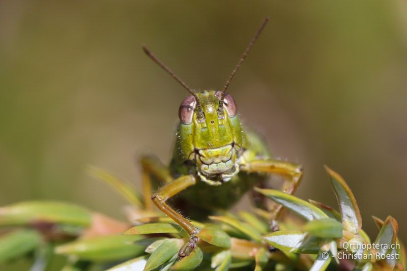
[[[171,174],[166,166],[154,156],[142,156],[140,159],[142,170],[142,189],[143,199],[147,210],[153,210],[154,205],[151,201],[152,196],[152,179],[151,176],[156,177],[165,184],[172,182]]]

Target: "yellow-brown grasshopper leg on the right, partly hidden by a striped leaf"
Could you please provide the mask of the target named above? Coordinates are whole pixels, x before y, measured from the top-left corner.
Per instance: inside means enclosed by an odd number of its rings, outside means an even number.
[[[288,163],[273,159],[253,160],[245,162],[241,166],[242,171],[246,172],[264,172],[277,173],[288,178],[284,178],[282,191],[293,195],[301,182],[302,166],[299,164]],[[274,203],[271,205],[271,221],[270,228],[272,231],[278,230],[277,218],[281,213],[282,206]]]

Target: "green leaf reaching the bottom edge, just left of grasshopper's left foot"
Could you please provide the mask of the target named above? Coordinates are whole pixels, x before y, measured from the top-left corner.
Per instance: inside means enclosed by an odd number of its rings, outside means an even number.
[[[144,267],[144,271],[153,270],[172,258],[178,253],[178,250],[182,245],[183,240],[181,239],[165,239],[164,242],[150,255],[146,266]]]

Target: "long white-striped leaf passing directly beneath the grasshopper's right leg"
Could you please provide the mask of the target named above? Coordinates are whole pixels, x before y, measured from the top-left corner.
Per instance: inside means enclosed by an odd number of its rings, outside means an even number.
[[[280,203],[287,209],[292,210],[292,212],[296,213],[306,220],[310,221],[314,219],[328,218],[328,216],[318,207],[293,195],[289,195],[287,193],[273,189],[261,189],[255,187],[254,190],[265,195],[268,198],[271,198],[275,202]]]

